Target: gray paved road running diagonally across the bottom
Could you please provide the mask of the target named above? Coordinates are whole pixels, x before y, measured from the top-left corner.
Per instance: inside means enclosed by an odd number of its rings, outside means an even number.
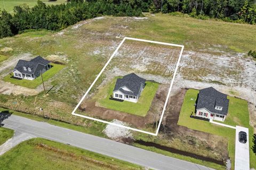
[[[29,120],[28,118],[20,116],[11,115],[2,123],[4,124],[5,128],[13,129],[18,132],[28,133],[36,137],[58,141],[61,143],[69,143],[71,146],[90,150],[102,155],[107,155],[153,169],[211,169],[183,160],[156,154],[155,152],[125,145],[113,140],[60,128],[59,126],[54,126],[45,122]]]

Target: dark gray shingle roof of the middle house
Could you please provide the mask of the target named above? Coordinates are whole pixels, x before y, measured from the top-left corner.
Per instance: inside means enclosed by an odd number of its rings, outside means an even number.
[[[120,90],[125,95],[138,96],[141,84],[143,85],[145,82],[145,79],[140,78],[134,73],[127,74],[122,79],[116,80],[116,85],[113,91]],[[126,87],[131,91],[123,90],[122,87]]]

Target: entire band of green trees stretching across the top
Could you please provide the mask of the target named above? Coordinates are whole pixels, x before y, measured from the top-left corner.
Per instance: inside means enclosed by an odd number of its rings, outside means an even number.
[[[140,16],[142,12],[180,12],[194,18],[256,23],[256,0],[71,0],[66,4],[14,6],[14,15],[0,12],[0,38],[27,29],[61,30],[100,15]]]

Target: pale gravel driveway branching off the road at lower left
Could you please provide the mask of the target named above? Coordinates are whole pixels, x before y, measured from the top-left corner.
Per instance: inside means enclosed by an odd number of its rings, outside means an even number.
[[[5,152],[17,146],[19,143],[31,138],[35,138],[35,136],[28,133],[15,131],[13,137],[0,146],[0,155],[3,155]]]

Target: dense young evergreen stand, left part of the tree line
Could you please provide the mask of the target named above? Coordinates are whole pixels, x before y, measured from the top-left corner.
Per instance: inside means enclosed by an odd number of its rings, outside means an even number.
[[[140,7],[105,0],[71,0],[66,4],[46,5],[37,1],[34,7],[23,4],[14,6],[14,15],[5,10],[0,13],[0,38],[16,35],[28,29],[61,30],[78,21],[100,15],[139,16]]]

